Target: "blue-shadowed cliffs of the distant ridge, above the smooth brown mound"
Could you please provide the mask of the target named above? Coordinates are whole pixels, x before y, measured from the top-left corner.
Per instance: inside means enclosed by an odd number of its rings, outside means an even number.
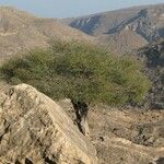
[[[90,35],[133,31],[151,42],[164,36],[164,4],[122,9],[66,20],[70,26]],[[65,21],[63,21],[65,22]]]

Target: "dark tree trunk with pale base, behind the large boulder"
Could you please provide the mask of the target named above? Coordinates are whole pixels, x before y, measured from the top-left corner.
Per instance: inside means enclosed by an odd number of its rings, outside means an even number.
[[[72,104],[74,106],[79,130],[84,136],[89,137],[90,136],[89,121],[87,121],[89,107],[86,103],[83,103],[83,102],[74,103],[72,101]]]

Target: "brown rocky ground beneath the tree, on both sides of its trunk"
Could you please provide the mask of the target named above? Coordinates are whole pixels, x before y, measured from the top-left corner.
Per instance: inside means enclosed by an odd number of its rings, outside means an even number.
[[[72,119],[69,99],[58,102]],[[90,106],[91,140],[99,164],[163,164],[164,110]]]

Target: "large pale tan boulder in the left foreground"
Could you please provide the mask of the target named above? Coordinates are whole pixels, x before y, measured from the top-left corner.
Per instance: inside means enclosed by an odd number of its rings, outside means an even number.
[[[0,94],[0,164],[96,164],[96,151],[62,108],[21,84]]]

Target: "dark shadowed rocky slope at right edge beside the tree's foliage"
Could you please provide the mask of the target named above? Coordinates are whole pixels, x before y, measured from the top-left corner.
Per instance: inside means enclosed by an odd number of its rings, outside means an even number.
[[[164,42],[155,42],[140,50],[138,56],[145,62],[153,87],[148,97],[152,108],[164,108]]]

